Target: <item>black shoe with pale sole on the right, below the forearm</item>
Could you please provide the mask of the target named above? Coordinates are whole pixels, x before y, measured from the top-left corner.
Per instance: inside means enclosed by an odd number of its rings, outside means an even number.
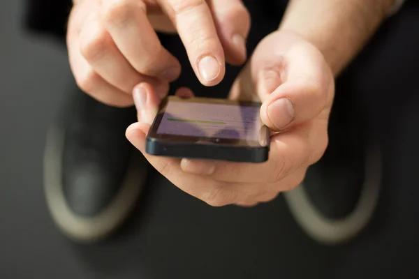
[[[381,187],[378,142],[367,133],[365,121],[355,119],[359,111],[336,107],[323,158],[309,167],[300,187],[284,193],[304,232],[331,245],[362,232],[373,216]]]

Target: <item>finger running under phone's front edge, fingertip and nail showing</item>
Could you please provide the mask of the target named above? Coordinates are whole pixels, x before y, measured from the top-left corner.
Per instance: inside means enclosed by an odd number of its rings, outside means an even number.
[[[315,127],[314,127],[315,125]],[[274,135],[270,158],[265,163],[233,163],[182,159],[182,170],[216,181],[239,183],[276,183],[301,166],[318,160],[328,144],[327,121],[307,123],[287,133]]]

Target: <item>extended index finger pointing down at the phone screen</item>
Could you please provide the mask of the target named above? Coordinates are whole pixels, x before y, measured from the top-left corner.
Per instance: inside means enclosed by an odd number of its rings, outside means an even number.
[[[224,52],[205,0],[159,0],[186,48],[200,82],[213,86],[226,72]]]

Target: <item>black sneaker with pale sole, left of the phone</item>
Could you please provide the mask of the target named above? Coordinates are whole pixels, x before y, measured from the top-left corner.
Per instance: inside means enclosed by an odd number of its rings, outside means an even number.
[[[108,107],[74,90],[63,112],[47,133],[47,205],[71,239],[96,241],[128,216],[145,183],[146,160],[125,137],[135,110]]]

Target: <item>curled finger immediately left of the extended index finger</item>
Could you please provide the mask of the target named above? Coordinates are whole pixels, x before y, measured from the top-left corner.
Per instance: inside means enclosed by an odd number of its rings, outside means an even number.
[[[115,44],[138,73],[175,80],[179,61],[161,45],[146,8],[138,0],[103,0],[101,15]]]

